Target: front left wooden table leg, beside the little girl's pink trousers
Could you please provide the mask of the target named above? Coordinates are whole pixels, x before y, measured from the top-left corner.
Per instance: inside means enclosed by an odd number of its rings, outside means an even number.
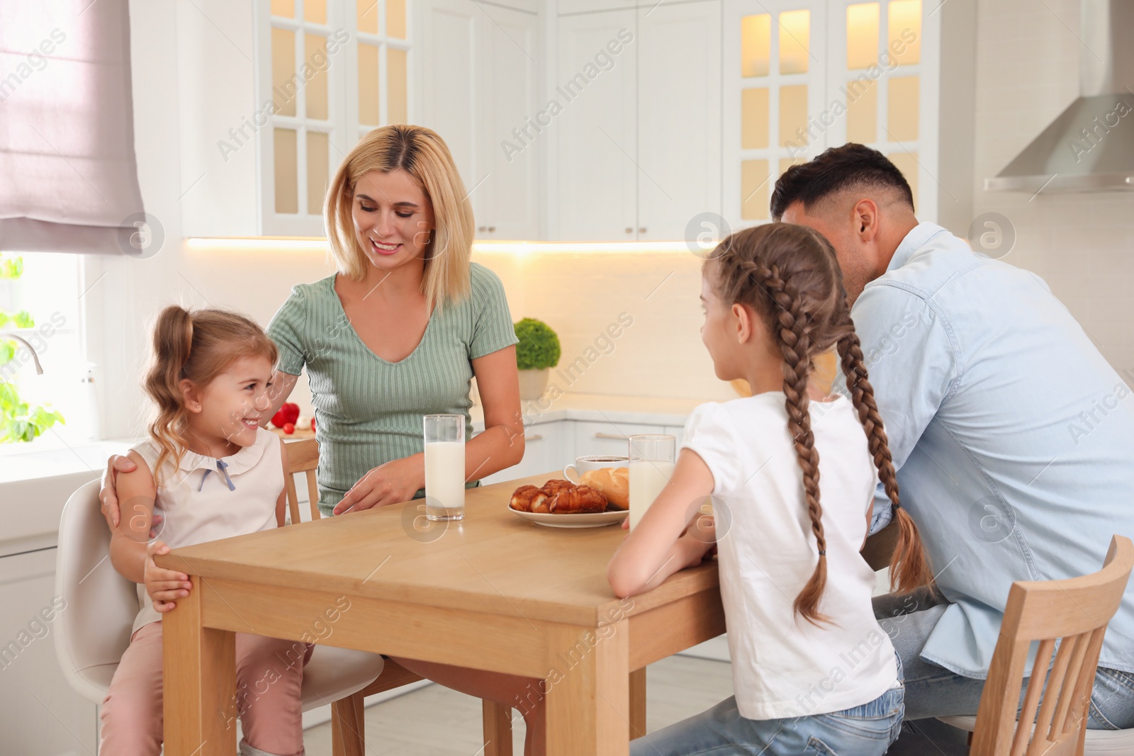
[[[166,756],[236,753],[236,635],[203,626],[202,594],[189,595],[162,618]]]

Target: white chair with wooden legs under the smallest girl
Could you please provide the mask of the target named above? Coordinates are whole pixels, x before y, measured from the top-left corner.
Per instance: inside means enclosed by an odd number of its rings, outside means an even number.
[[[64,507],[56,595],[66,600],[67,609],[54,622],[56,653],[64,676],[81,696],[95,704],[107,696],[138,612],[136,585],[110,563],[110,530],[99,509],[99,481],[87,483]],[[379,654],[315,646],[303,671],[303,711],[366,688],[382,674],[386,661]],[[362,751],[361,732],[336,736],[336,755]]]

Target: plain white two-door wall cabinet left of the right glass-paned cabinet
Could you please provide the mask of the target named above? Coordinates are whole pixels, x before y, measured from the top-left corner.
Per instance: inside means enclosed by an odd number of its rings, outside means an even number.
[[[559,16],[559,239],[676,240],[720,212],[720,25],[719,0]]]

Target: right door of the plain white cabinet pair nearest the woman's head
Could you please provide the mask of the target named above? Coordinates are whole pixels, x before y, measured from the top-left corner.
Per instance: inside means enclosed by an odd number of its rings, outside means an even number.
[[[536,239],[540,129],[550,119],[538,104],[540,17],[488,3],[480,5],[480,12],[484,43],[476,163],[486,172],[475,188],[472,177],[465,177],[476,209],[476,238]]]

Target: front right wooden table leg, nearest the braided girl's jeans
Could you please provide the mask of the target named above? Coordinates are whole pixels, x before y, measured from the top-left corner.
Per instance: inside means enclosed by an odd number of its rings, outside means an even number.
[[[548,756],[629,755],[629,622],[548,628]]]

